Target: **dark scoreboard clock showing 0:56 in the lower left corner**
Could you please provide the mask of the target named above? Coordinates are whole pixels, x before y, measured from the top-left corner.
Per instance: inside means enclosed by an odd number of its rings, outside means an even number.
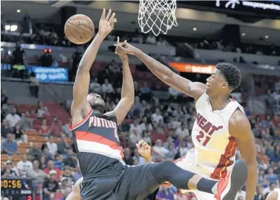
[[[32,180],[28,178],[1,177],[1,197],[16,200],[33,200]]]

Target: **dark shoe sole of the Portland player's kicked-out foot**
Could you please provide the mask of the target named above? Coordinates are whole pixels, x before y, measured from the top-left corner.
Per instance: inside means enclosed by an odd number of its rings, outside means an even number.
[[[237,160],[230,175],[230,190],[221,200],[235,200],[238,190],[247,180],[248,169],[244,160]]]

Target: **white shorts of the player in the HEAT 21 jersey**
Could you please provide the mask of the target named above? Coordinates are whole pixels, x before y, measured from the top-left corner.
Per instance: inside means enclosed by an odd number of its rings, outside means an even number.
[[[179,159],[177,163],[175,163],[177,166],[183,168],[184,170],[188,170],[190,172],[194,172],[197,175],[200,175],[201,177],[205,177],[207,179],[211,179],[209,176],[203,175],[201,173],[201,170],[199,169],[199,165],[196,163],[196,157],[194,155],[194,148],[191,148],[188,153],[186,153],[186,156]],[[198,190],[185,190],[181,189],[181,192],[187,193],[187,192],[192,192],[196,195],[196,198],[198,200],[216,200],[214,194],[209,194],[206,192],[201,192]]]

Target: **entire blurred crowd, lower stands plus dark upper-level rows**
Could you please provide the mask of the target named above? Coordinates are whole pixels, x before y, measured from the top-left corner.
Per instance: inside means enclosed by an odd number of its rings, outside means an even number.
[[[2,29],[3,30],[3,29]],[[24,32],[24,30],[23,30]],[[22,33],[23,33],[22,32]],[[54,45],[70,47],[71,44],[63,34],[61,27],[55,25],[35,24],[33,33],[20,35],[21,43]],[[119,35],[128,42],[151,44],[159,46],[175,45],[174,38],[143,35],[139,30],[134,33],[114,32],[107,40],[116,40]],[[1,33],[3,41],[18,42],[18,37]],[[180,39],[182,40],[182,39]],[[168,41],[168,42],[167,42]],[[183,39],[184,42],[184,39]],[[85,46],[84,46],[85,47]],[[259,47],[258,45],[240,45],[238,47],[223,41],[201,40],[194,44],[201,49],[219,49],[227,52],[246,52],[251,54],[279,55],[277,47]],[[24,51],[19,46],[11,55],[13,64],[23,64]],[[72,57],[70,81],[74,80],[77,65],[82,57],[78,49]],[[47,50],[40,58],[42,66],[52,64],[51,52]],[[246,62],[240,58],[240,62]],[[16,74],[15,77],[17,77]],[[30,92],[38,98],[38,80],[30,76]],[[196,76],[198,80],[198,76]],[[203,79],[203,78],[202,78]],[[205,80],[205,79],[203,79]],[[256,86],[263,88],[267,78],[259,76],[255,79]],[[121,96],[122,68],[116,61],[111,61],[106,68],[91,77],[90,92],[99,93],[105,100],[105,111],[113,110]],[[195,105],[190,98],[182,95],[174,88],[168,88],[169,98],[159,100],[152,95],[151,86],[145,81],[135,81],[135,103],[119,127],[119,138],[123,146],[124,161],[127,165],[142,165],[145,159],[139,155],[135,143],[140,139],[152,146],[154,162],[176,160],[184,156],[193,147],[191,129],[196,119]],[[280,117],[273,114],[273,105],[280,100],[280,85],[269,86],[267,93],[267,114],[254,116],[245,107],[255,136],[259,180],[254,200],[264,200],[267,194],[279,187],[280,178]],[[242,92],[242,105],[246,105],[248,94]],[[40,122],[40,124],[38,124]],[[70,122],[70,119],[69,119]],[[33,180],[33,189],[43,199],[55,199],[55,194],[62,194],[61,199],[71,192],[72,185],[82,177],[77,152],[71,141],[69,122],[52,116],[43,102],[38,102],[36,110],[21,112],[17,105],[11,105],[9,96],[1,90],[1,157],[5,155],[4,165],[1,165],[1,177],[28,177]],[[28,131],[35,131],[44,137],[43,143],[30,140]],[[30,145],[28,152],[20,151],[23,143]],[[239,153],[237,153],[239,155]],[[16,157],[17,156],[17,157]],[[18,157],[19,156],[19,157]],[[17,158],[17,159],[15,159]],[[236,199],[245,199],[245,188],[238,192]],[[195,200],[194,194],[181,194],[175,187],[160,187],[157,199],[187,199]]]

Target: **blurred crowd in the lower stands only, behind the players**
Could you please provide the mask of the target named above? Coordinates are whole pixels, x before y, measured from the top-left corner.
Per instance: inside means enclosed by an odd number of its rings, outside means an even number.
[[[100,93],[106,101],[106,111],[113,110],[121,93],[121,69],[112,61],[106,73],[92,78],[91,92]],[[99,83],[102,80],[103,83]],[[169,100],[160,101],[152,96],[151,88],[135,81],[135,103],[125,122],[119,127],[119,138],[124,149],[124,161],[128,165],[142,165],[142,158],[135,143],[144,139],[152,146],[155,162],[176,160],[193,147],[191,129],[196,118],[194,102],[173,88],[169,88]],[[184,102],[184,104],[182,103]],[[279,187],[280,176],[280,119],[278,115],[252,116],[246,110],[254,132],[259,171],[256,200],[263,200],[275,187]],[[33,125],[40,119],[41,124]],[[38,146],[32,144],[28,153],[18,152],[18,146],[28,142],[26,131],[35,129],[47,139]],[[52,199],[60,192],[67,196],[71,186],[79,177],[76,152],[70,138],[69,122],[51,116],[43,102],[38,102],[36,110],[21,113],[15,105],[9,105],[9,97],[1,90],[1,154],[21,155],[21,160],[7,160],[2,165],[1,177],[30,177],[35,191],[43,189],[45,199]],[[237,153],[238,154],[238,153]],[[159,199],[196,199],[193,194],[180,194],[175,187],[161,187]],[[245,199],[245,191],[240,190],[237,199]]]

